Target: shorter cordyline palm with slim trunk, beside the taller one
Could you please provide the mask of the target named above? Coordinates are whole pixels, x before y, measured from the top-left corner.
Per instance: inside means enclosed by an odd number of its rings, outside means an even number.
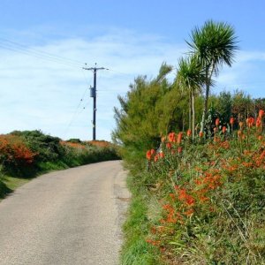
[[[177,84],[189,95],[189,129],[193,132],[193,139],[195,131],[194,97],[197,92],[201,92],[204,79],[204,72],[197,57],[182,57],[178,61]]]

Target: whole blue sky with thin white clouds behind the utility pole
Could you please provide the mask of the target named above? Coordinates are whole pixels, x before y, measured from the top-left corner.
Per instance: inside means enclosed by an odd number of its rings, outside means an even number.
[[[0,133],[91,139],[93,79],[82,66],[96,62],[110,68],[97,82],[97,139],[110,140],[117,95],[163,62],[177,66],[191,30],[208,19],[231,24],[240,48],[213,92],[265,97],[264,10],[261,0],[0,0]]]

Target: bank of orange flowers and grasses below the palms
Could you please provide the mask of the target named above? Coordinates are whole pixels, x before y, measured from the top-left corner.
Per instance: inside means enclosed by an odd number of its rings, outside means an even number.
[[[147,208],[141,237],[166,264],[264,263],[263,115],[231,120],[230,132],[217,118],[212,138],[170,133],[148,151],[148,170],[133,178]]]

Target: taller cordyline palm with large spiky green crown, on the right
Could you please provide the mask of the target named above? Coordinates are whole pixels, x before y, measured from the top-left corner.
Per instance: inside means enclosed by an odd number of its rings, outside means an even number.
[[[231,66],[235,51],[238,48],[237,37],[233,27],[223,22],[208,20],[203,27],[195,27],[192,31],[191,42],[187,44],[191,53],[197,57],[205,74],[205,100],[201,119],[201,132],[203,132],[206,114],[208,111],[208,95],[213,75],[217,76],[223,64]]]

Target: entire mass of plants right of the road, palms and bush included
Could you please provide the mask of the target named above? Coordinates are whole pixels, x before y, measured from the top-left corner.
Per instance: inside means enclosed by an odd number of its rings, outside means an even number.
[[[133,193],[121,264],[265,264],[265,98],[219,95],[233,28],[207,21],[190,56],[136,78],[115,108],[113,140]]]

